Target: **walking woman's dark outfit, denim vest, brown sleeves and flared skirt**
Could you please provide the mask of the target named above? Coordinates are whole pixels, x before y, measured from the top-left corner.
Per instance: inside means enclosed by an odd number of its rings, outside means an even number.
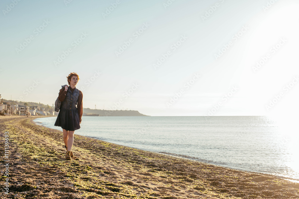
[[[62,89],[64,90],[64,88]],[[79,116],[77,103],[78,101],[81,101],[80,102],[80,112],[81,112],[83,94],[76,87],[72,89],[70,86],[68,87],[66,94],[63,93],[65,93],[65,91],[60,92],[61,97],[65,95],[65,99],[61,102],[60,111],[58,113],[54,126],[60,126],[62,129],[70,130],[70,131],[78,130],[80,129],[79,122],[81,122],[82,113]],[[63,99],[63,97],[61,99]]]

